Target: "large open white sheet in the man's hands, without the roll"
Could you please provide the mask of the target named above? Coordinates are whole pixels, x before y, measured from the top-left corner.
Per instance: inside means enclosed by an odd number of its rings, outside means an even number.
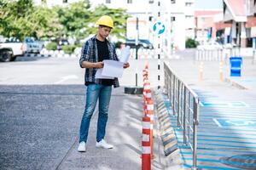
[[[115,61],[112,59],[104,59],[103,63],[104,63],[104,67],[102,70],[102,76],[104,77],[122,77],[123,76],[124,63],[120,61]]]

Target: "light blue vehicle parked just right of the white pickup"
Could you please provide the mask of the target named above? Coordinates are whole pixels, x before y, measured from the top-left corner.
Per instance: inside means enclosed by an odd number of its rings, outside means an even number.
[[[25,37],[24,39],[26,53],[40,53],[43,44],[35,41],[32,37]]]

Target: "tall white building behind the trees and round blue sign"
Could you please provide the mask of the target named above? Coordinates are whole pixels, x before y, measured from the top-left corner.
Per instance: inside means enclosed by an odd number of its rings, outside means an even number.
[[[77,1],[79,0],[34,0],[36,4],[45,2],[48,6]],[[158,36],[153,32],[156,21],[166,27],[160,35],[160,44],[163,47],[184,49],[186,38],[195,38],[195,0],[90,0],[90,4],[92,8],[101,4],[108,8],[125,8],[132,16],[127,20],[128,38],[135,39],[138,34],[140,39],[148,39],[155,46],[158,43]],[[136,18],[139,20],[138,33]]]

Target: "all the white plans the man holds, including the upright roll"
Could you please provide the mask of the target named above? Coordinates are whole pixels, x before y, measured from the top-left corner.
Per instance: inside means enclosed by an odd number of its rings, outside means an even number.
[[[123,65],[128,61],[130,57],[130,47],[126,47],[121,51],[119,61],[112,59],[104,59],[104,67],[96,71],[96,78],[113,79],[113,77],[123,76]]]

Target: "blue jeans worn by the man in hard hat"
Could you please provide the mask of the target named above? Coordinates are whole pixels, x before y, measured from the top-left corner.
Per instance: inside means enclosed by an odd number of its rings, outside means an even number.
[[[79,142],[84,141],[86,143],[87,141],[90,127],[90,118],[95,111],[97,99],[99,99],[99,116],[97,122],[96,141],[99,142],[104,139],[108,121],[108,106],[110,102],[111,91],[111,86],[104,86],[101,84],[89,84],[87,86],[86,102],[84,116],[82,117],[80,126]]]

